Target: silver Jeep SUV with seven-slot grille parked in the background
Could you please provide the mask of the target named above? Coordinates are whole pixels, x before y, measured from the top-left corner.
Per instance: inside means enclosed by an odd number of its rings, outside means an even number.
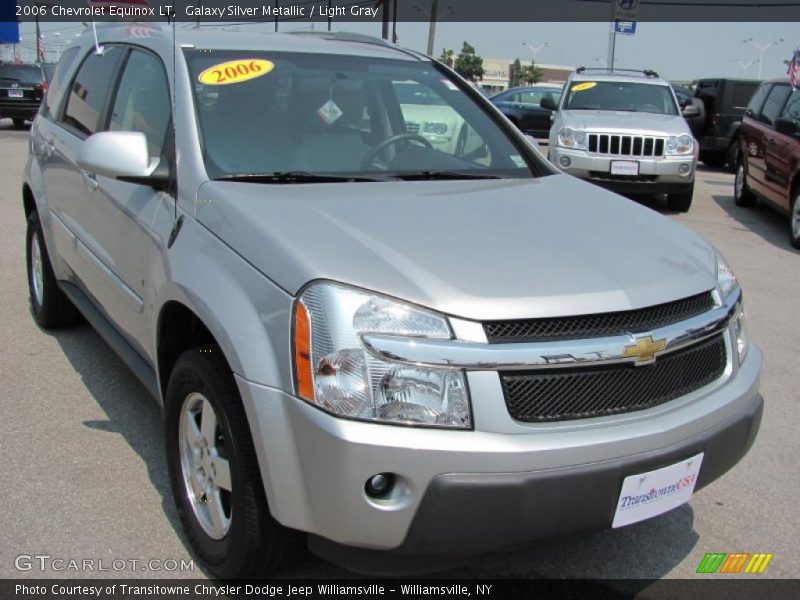
[[[655,72],[579,68],[554,114],[549,157],[563,171],[620,193],[667,194],[671,210],[689,210],[698,145]]]

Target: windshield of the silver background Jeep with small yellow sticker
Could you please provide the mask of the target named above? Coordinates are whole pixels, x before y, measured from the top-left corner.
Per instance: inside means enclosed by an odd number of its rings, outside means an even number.
[[[573,82],[564,108],[678,114],[669,86],[635,81]]]

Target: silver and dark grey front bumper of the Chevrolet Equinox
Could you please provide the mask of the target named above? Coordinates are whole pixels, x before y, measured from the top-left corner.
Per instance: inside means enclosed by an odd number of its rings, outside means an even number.
[[[343,546],[468,554],[602,529],[624,477],[701,450],[706,485],[755,437],[761,361],[751,345],[740,366],[729,358],[719,381],[672,402],[544,424],[513,421],[497,373],[470,372],[474,431],[349,421],[281,390],[238,376],[237,384],[273,516],[315,534],[315,550],[341,562]],[[372,500],[364,484],[384,472],[400,477],[400,493]],[[353,552],[357,566],[363,557]]]

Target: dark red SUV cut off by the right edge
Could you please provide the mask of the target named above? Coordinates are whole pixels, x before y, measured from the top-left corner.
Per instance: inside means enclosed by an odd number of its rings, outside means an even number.
[[[789,216],[789,239],[800,248],[800,90],[786,78],[756,90],[742,120],[734,199],[760,199]]]

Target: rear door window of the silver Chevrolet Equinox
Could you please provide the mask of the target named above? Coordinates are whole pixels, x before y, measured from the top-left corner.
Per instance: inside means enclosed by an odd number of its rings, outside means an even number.
[[[103,109],[114,87],[114,74],[124,53],[119,46],[105,46],[102,54],[93,52],[86,57],[67,98],[66,125],[86,135],[99,130]]]

